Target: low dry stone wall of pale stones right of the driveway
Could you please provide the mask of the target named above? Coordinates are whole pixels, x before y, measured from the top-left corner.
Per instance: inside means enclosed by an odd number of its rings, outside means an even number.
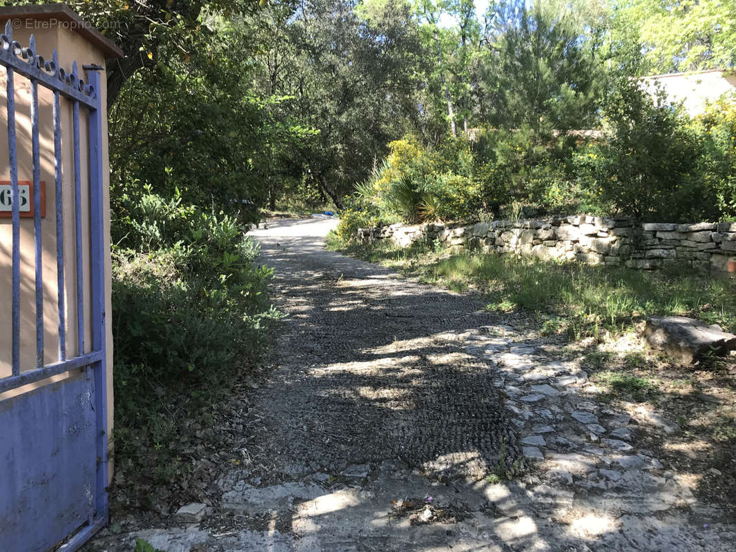
[[[725,270],[729,258],[736,259],[736,223],[730,222],[640,224],[629,218],[565,216],[470,226],[391,224],[360,229],[358,239],[390,239],[400,247],[417,240],[439,240],[455,250],[533,255],[634,269],[677,264]]]

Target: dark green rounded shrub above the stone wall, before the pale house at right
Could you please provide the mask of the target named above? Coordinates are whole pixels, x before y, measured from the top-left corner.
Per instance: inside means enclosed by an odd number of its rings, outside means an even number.
[[[676,107],[620,78],[604,111],[606,139],[574,156],[581,182],[602,211],[673,222],[717,216],[698,177],[698,133]]]

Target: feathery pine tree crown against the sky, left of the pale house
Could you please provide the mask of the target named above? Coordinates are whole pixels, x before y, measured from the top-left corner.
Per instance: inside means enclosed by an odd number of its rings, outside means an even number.
[[[600,93],[600,43],[575,4],[502,0],[487,17],[484,117],[507,128],[590,128]]]

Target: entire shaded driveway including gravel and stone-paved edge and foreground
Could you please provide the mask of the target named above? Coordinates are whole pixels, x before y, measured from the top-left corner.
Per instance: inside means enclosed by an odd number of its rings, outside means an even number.
[[[323,248],[330,220],[252,235],[289,314],[255,389],[260,446],[197,523],[102,535],[167,552],[712,550],[736,542],[684,475],[637,447],[638,419],[482,310]],[[669,424],[669,425],[668,425]],[[510,481],[499,481],[505,474]],[[192,519],[194,521],[194,518]]]

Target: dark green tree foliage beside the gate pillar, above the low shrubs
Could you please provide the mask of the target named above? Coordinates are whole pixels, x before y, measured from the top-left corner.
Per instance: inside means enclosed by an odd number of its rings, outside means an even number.
[[[223,30],[221,38],[202,45],[208,57],[172,57],[127,80],[110,110],[113,210],[143,184],[166,199],[258,220],[269,178],[278,177],[271,144],[300,144],[309,134],[275,120],[279,100],[256,98],[227,54],[239,36]]]

